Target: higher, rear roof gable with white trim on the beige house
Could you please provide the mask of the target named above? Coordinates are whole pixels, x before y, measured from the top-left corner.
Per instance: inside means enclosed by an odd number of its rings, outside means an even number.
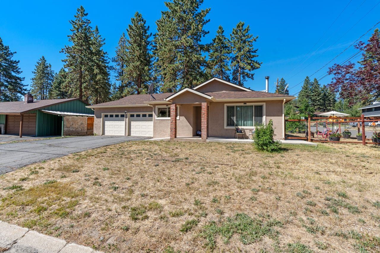
[[[193,88],[200,92],[221,92],[221,91],[252,91],[240,85],[233,84],[218,77],[213,77],[206,82]]]

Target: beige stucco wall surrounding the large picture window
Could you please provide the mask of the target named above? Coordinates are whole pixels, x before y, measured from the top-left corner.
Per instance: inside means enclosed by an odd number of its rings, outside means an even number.
[[[233,138],[235,130],[233,128],[224,128],[224,104],[233,102],[213,102],[209,105],[209,137]],[[239,101],[237,103],[244,103]],[[250,101],[246,101],[250,103]],[[255,101],[255,103],[265,103],[265,120],[273,120],[273,126],[276,134],[275,139],[282,139],[282,101]],[[249,128],[245,128],[246,134]]]

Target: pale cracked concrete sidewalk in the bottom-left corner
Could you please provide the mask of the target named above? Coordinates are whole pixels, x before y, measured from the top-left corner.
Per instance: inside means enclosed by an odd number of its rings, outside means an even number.
[[[0,252],[100,253],[92,248],[0,221]]]

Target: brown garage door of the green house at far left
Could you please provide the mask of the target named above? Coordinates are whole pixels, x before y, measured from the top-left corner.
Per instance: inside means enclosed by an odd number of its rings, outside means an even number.
[[[6,115],[6,133],[20,133],[21,115]],[[36,135],[36,114],[24,114],[22,134]]]

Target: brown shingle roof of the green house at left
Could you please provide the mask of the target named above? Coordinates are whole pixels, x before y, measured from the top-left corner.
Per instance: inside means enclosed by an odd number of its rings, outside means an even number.
[[[35,100],[33,103],[25,104],[24,101],[15,102],[1,102],[0,113],[22,113],[44,108],[54,104],[60,104],[71,100],[77,100],[79,98],[65,98],[65,99],[47,99],[47,100]],[[86,103],[86,102],[84,102]]]

